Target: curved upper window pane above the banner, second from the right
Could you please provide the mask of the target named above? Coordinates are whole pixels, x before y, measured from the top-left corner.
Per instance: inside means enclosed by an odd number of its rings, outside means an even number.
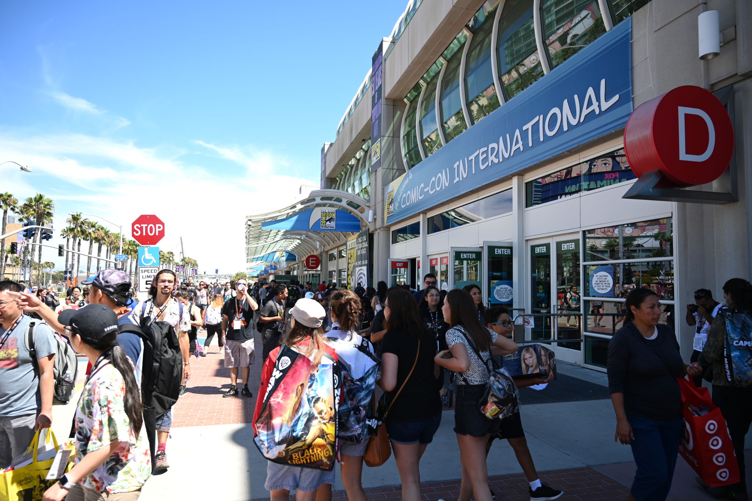
[[[597,0],[542,0],[541,24],[552,68],[606,32]]]

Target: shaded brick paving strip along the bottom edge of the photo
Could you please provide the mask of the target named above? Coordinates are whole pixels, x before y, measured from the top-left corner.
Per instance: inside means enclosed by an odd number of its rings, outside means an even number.
[[[627,499],[629,488],[615,481],[611,477],[603,475],[592,468],[559,469],[552,472],[539,472],[541,481],[551,487],[564,490],[561,501],[601,501],[605,499]],[[528,492],[529,484],[525,475],[496,475],[489,478],[489,484],[496,493],[499,501],[527,501],[530,499]],[[423,501],[436,501],[437,499],[456,499],[459,496],[459,479],[443,482],[420,484],[420,493]],[[365,489],[368,499],[390,499],[398,501],[402,499],[399,485],[390,487],[371,487]],[[294,499],[294,496],[293,496]],[[269,501],[269,499],[262,499]],[[347,501],[347,494],[343,491],[332,494],[332,501]]]

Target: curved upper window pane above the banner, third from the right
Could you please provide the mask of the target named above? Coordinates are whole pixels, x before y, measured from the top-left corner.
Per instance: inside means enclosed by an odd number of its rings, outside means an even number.
[[[499,21],[499,80],[506,100],[543,76],[535,28],[533,0],[507,0]]]

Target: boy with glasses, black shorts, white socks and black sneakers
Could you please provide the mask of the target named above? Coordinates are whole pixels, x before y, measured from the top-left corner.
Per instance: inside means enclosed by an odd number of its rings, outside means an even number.
[[[493,332],[508,339],[512,338],[514,323],[512,323],[507,308],[504,308],[503,306],[488,308],[486,310],[485,320],[487,327],[493,330]],[[496,360],[501,360],[501,357],[496,357]],[[533,386],[534,384],[547,384],[551,381],[553,381],[553,371],[551,371],[546,379],[515,379],[514,384],[517,384],[517,387],[525,387]],[[525,431],[522,427],[522,419],[520,418],[519,412],[503,419],[499,433],[490,436],[488,443],[486,444],[487,457],[488,451],[491,450],[491,444],[493,444],[495,439],[507,439],[509,445],[514,449],[514,455],[517,456],[517,462],[520,463],[522,471],[527,477],[527,481],[530,482],[530,499],[557,499],[562,496],[563,492],[561,490],[548,487],[541,482],[540,478],[538,478],[538,472],[535,470],[535,463],[533,463],[530,449],[527,447],[527,439],[525,438]],[[496,497],[493,490],[491,490],[491,496]]]

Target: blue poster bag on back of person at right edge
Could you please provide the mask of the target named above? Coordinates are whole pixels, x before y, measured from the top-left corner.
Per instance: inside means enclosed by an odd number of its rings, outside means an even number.
[[[722,308],[726,322],[726,379],[737,387],[752,385],[752,316]]]

